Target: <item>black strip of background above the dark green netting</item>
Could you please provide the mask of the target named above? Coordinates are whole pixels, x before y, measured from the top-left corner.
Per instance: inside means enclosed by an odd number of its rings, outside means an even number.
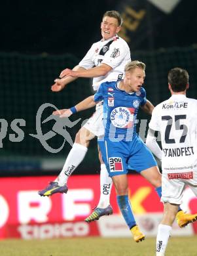
[[[1,3],[0,49],[30,54],[73,53],[82,58],[90,45],[100,39],[103,13],[111,9],[122,11],[126,5],[147,10],[137,38],[132,38],[132,50],[150,51],[196,43],[195,0],[180,1],[169,15],[147,0],[20,0]]]

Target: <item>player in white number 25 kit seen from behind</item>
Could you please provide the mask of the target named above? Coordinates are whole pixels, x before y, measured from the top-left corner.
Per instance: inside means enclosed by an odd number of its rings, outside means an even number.
[[[147,146],[162,159],[164,216],[156,237],[157,256],[165,255],[185,186],[197,196],[197,100],[186,96],[188,72],[181,68],[170,70],[168,87],[171,97],[154,108],[147,135]],[[155,131],[161,134],[162,150]],[[191,221],[196,219],[197,214]]]

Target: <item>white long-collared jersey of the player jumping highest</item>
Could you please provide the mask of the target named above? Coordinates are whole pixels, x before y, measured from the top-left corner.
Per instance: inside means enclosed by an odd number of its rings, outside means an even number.
[[[99,85],[104,81],[122,79],[124,67],[130,61],[128,44],[121,37],[116,36],[94,43],[86,56],[79,62],[79,66],[90,69],[103,63],[113,68],[105,76],[94,77],[92,86],[94,91],[97,91]]]

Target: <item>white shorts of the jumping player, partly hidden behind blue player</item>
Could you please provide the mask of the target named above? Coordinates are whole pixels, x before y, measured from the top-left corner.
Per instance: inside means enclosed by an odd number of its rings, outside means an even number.
[[[103,137],[103,102],[99,102],[96,105],[96,112],[88,119],[83,125],[88,131],[96,135],[96,137]]]

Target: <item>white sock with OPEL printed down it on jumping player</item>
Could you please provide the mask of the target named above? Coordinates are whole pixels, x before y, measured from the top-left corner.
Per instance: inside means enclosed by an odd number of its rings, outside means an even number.
[[[98,203],[99,208],[106,208],[110,204],[110,194],[113,181],[109,177],[105,163],[101,164],[101,173],[100,173],[100,199]]]

